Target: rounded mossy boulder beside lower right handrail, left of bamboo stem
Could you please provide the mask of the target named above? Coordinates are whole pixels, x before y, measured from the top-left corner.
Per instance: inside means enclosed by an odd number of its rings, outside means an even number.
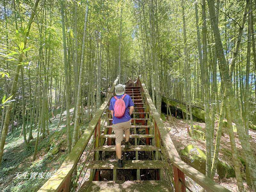
[[[183,150],[181,150],[181,158],[185,163],[205,174],[206,155],[200,148],[189,144]]]

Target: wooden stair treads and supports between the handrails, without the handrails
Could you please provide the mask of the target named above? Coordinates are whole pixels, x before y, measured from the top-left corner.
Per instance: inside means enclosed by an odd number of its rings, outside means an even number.
[[[155,134],[149,112],[146,111],[145,98],[141,87],[128,84],[125,88],[125,93],[132,97],[134,102],[134,112],[132,113],[132,126],[130,130],[130,142],[132,147],[130,149],[124,149],[124,141],[121,146],[124,166],[123,168],[119,168],[117,165],[117,159],[104,159],[104,152],[109,153],[112,151],[112,153],[115,153],[116,149],[115,134],[113,132],[112,125],[113,119],[108,111],[109,118],[107,124],[104,126],[105,131],[101,131],[100,143],[93,149],[98,152],[98,155],[94,156],[94,160],[87,165],[87,169],[91,170],[90,181],[92,182],[90,182],[90,184],[85,182],[79,191],[105,191],[110,186],[113,189],[111,191],[126,191],[128,186],[129,188],[138,190],[142,183],[140,172],[144,169],[151,170],[150,173],[152,173],[153,170],[155,174],[153,174],[153,179],[152,175],[150,175],[151,177],[149,177],[151,180],[143,181],[143,188],[145,188],[146,185],[149,187],[148,189],[155,188],[158,191],[160,189],[161,191],[168,191],[168,187],[165,186],[163,182],[163,168],[165,168],[165,166],[159,153],[161,151],[161,148],[158,145],[160,143],[160,138]],[[129,160],[126,160],[126,153],[129,153],[130,151],[135,151],[135,153],[133,152],[129,154]],[[143,155],[139,156],[139,151],[149,153],[151,159],[144,159],[145,157]],[[136,171],[136,181],[118,181],[118,174],[126,174],[125,172],[122,172],[122,170],[125,169],[132,169]],[[102,170],[109,170],[113,175],[112,180],[102,181],[100,177],[100,172]],[[147,177],[145,174],[143,176],[143,178]]]

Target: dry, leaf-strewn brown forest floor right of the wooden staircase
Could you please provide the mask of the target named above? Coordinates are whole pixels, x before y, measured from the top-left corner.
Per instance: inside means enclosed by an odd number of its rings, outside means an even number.
[[[170,121],[165,121],[166,124],[168,124],[169,126],[170,125],[172,126],[172,129],[169,132],[169,135],[172,138],[173,144],[175,145],[179,154],[180,154],[180,151],[182,149],[184,149],[186,146],[188,146],[189,144],[195,145],[198,148],[200,148],[201,150],[203,150],[204,152],[206,152],[206,150],[205,150],[205,141],[204,140],[196,140],[196,139],[191,138],[188,135],[186,120],[176,119],[175,117],[173,117],[173,122],[174,122],[177,130],[173,126],[173,123],[172,123],[171,120]],[[203,128],[202,131],[205,130],[205,123],[200,123],[200,122],[193,122],[193,123],[194,123],[194,125],[200,125]],[[215,122],[214,137],[216,137],[217,126],[218,126],[218,122],[216,121]],[[189,128],[190,128],[190,126],[189,126]],[[237,135],[236,132],[234,132],[234,135],[235,135],[235,138],[236,138],[236,147],[237,147],[239,156],[241,156],[243,158],[243,153],[242,153],[243,150],[242,150],[242,146],[240,144],[240,141],[238,139],[238,135]],[[256,157],[256,148],[253,147],[256,144],[256,131],[250,129],[249,130],[249,135],[250,135],[250,143],[251,143],[252,151],[253,151],[254,156]],[[232,157],[230,158],[230,156],[227,156],[225,154],[225,150],[227,150],[227,149],[229,151],[231,151],[230,142],[229,142],[229,135],[228,135],[227,128],[223,128],[223,132],[222,132],[222,136],[221,136],[221,140],[220,140],[219,160],[221,160],[223,163],[232,164],[232,162],[233,162]],[[242,176],[243,176],[243,178],[245,178],[245,173],[244,172],[242,172]],[[215,177],[214,177],[214,180],[216,182],[220,183],[222,186],[228,188],[230,191],[238,192],[238,188],[237,188],[237,184],[236,184],[236,178],[220,179],[220,177],[216,174]],[[245,188],[245,191],[248,191],[248,192],[254,191],[251,187],[249,187],[245,183],[245,181],[244,181],[244,188]]]

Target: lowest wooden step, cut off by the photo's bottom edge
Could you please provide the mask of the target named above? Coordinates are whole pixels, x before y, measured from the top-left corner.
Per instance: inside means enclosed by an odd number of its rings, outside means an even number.
[[[163,180],[151,181],[85,181],[78,192],[170,192],[171,187]]]

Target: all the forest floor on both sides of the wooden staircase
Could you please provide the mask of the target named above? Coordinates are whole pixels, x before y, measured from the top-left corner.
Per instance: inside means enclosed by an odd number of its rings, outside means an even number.
[[[73,114],[73,109],[70,109],[71,117]],[[2,192],[33,192],[37,191],[47,180],[47,177],[50,177],[55,170],[57,170],[64,159],[67,156],[66,151],[66,144],[67,144],[67,137],[66,137],[66,111],[63,112],[62,121],[60,127],[57,127],[60,118],[60,109],[57,111],[53,111],[53,114],[57,113],[56,118],[51,118],[52,123],[49,123],[49,131],[50,134],[47,135],[44,139],[42,139],[42,135],[40,135],[39,143],[38,143],[38,152],[36,155],[36,160],[33,161],[33,153],[34,153],[34,146],[36,142],[36,134],[37,130],[34,129],[32,131],[33,139],[30,141],[28,148],[26,148],[23,142],[23,136],[20,137],[21,127],[18,130],[15,130],[13,134],[7,136],[6,144],[4,147],[4,155],[3,155],[3,162],[0,169],[0,191]],[[169,132],[172,141],[180,153],[184,147],[189,144],[193,144],[203,150],[205,152],[205,141],[192,139],[188,136],[187,133],[187,125],[186,121],[183,119],[176,119],[173,117],[174,124],[173,126],[172,121],[165,121],[168,126],[171,126],[172,129]],[[88,122],[84,122],[81,126],[81,129],[85,129],[85,126]],[[202,130],[205,129],[205,124],[200,122],[194,122],[195,125],[200,125]],[[216,128],[217,122],[215,124],[215,136],[216,136]],[[71,125],[71,133],[73,132],[74,125]],[[243,157],[242,154],[242,147],[238,140],[238,135],[235,132],[236,143],[239,155]],[[252,146],[256,144],[256,131],[249,130],[250,134],[250,142]],[[28,133],[27,133],[28,138]],[[89,143],[90,145],[90,143]],[[88,145],[88,146],[89,146]],[[228,132],[223,130],[223,134],[221,136],[221,149],[228,149],[230,148],[229,143],[229,136]],[[252,148],[253,153],[256,157],[256,148]],[[85,150],[86,151],[86,150]],[[92,155],[92,154],[91,154]],[[108,154],[109,155],[109,154]],[[112,157],[113,154],[109,156]],[[144,154],[145,155],[145,154]],[[79,161],[79,165],[85,161],[88,154],[86,152],[83,153],[81,156],[81,160]],[[225,150],[220,150],[219,159],[227,164],[232,164],[232,159],[229,156],[225,155]],[[79,166],[80,167],[80,166]],[[80,170],[78,170],[79,172]],[[19,173],[19,177],[17,176]],[[36,177],[34,178],[32,175],[33,173],[37,173]],[[41,176],[39,176],[41,175]],[[84,177],[84,180],[89,178],[90,172],[87,171]],[[243,173],[244,176],[244,173]],[[40,178],[41,177],[41,178]],[[108,176],[106,176],[108,177]],[[120,178],[121,179],[121,178]],[[131,178],[129,178],[131,179]],[[236,178],[229,178],[229,179],[220,179],[218,175],[215,175],[214,180],[224,187],[228,188],[231,191],[238,191],[236,185]],[[81,182],[81,178],[79,179]],[[252,192],[252,188],[250,188],[245,182],[244,187],[246,191]]]

